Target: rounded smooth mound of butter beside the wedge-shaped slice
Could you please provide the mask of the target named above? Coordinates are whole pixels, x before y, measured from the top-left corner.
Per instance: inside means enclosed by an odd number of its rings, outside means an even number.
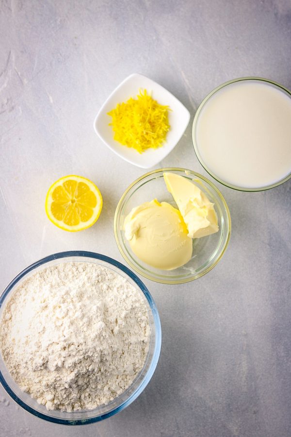
[[[178,211],[156,199],[133,208],[124,222],[132,252],[156,269],[172,270],[192,256],[192,239]]]

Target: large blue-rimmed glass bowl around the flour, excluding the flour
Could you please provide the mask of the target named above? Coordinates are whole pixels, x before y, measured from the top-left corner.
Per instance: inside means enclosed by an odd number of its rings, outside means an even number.
[[[20,405],[28,412],[32,413],[34,416],[39,417],[40,419],[65,425],[84,425],[87,423],[104,420],[110,416],[113,416],[113,414],[116,414],[126,408],[141,394],[156,369],[161,351],[162,334],[161,322],[157,307],[148,289],[142,283],[142,281],[123,264],[115,261],[112,258],[109,258],[108,256],[94,252],[70,251],[55,253],[39,261],[36,261],[31,266],[24,269],[16,276],[16,278],[9,284],[9,286],[6,287],[6,289],[0,296],[0,319],[6,303],[11,298],[13,292],[21,284],[21,282],[26,280],[37,270],[44,269],[51,265],[72,261],[96,263],[101,266],[107,267],[108,269],[111,269],[114,272],[125,277],[130,282],[130,284],[132,284],[136,288],[136,290],[144,297],[148,310],[151,334],[149,350],[143,369],[140,371],[139,375],[136,377],[133,383],[127,388],[127,390],[125,390],[112,402],[108,403],[107,405],[100,405],[94,410],[81,410],[72,413],[67,413],[65,411],[59,410],[48,411],[44,405],[39,405],[36,400],[32,399],[29,394],[24,393],[22,390],[20,390],[16,382],[11,377],[9,371],[7,370],[1,354],[0,383],[5,388],[7,393],[12,397],[12,399],[16,401],[16,403],[18,403],[18,405]]]

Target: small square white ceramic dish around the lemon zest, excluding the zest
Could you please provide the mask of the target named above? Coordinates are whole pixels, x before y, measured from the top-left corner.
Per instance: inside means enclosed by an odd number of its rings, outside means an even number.
[[[161,105],[168,105],[171,109],[168,113],[170,130],[167,133],[166,141],[162,147],[148,149],[144,153],[123,146],[113,139],[113,129],[112,126],[109,126],[112,118],[107,114],[116,107],[117,103],[126,102],[130,97],[135,98],[140,89],[146,89],[153,99]],[[151,168],[162,161],[174,149],[185,132],[189,120],[190,113],[188,109],[173,94],[146,76],[134,73],[121,82],[102,105],[95,118],[94,129],[106,146],[118,156],[137,167]]]

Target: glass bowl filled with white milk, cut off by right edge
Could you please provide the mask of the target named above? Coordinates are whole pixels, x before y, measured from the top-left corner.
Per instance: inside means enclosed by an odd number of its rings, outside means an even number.
[[[243,77],[215,88],[192,134],[201,165],[230,188],[266,190],[291,177],[291,91],[271,80]]]

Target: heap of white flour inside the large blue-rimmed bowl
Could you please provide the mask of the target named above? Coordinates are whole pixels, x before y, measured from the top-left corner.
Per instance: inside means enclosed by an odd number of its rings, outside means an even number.
[[[20,388],[48,410],[109,403],[142,369],[144,298],[121,275],[67,262],[34,273],[2,314],[0,350]]]

